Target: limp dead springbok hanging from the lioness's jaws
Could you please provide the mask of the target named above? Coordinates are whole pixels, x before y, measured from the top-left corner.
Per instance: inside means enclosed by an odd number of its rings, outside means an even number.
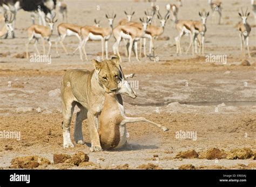
[[[123,76],[123,75],[122,75]],[[131,98],[136,98],[136,93],[132,90],[130,83],[120,77],[120,89],[116,92],[105,93],[105,100],[102,113],[99,117],[99,138],[103,149],[121,148],[126,143],[126,124],[145,121],[168,131],[168,128],[143,117],[132,118],[125,116],[124,106],[118,102],[117,94],[123,94]]]

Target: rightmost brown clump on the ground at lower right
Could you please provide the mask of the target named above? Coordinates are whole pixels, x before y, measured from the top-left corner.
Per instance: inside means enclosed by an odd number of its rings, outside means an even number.
[[[242,149],[233,149],[230,152],[227,152],[227,159],[250,159],[254,154],[249,148]]]

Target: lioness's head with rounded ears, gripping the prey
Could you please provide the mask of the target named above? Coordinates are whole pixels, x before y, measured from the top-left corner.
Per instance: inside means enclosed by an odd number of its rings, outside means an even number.
[[[98,76],[98,81],[102,84],[104,90],[107,93],[117,91],[119,80],[119,58],[117,56],[112,57],[111,60],[104,60],[98,62],[92,60],[93,66]]]

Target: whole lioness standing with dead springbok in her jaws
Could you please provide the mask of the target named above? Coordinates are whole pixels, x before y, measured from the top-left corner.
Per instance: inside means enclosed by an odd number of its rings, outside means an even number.
[[[100,151],[99,134],[97,130],[98,116],[103,109],[104,93],[118,90],[119,58],[98,62],[93,60],[92,71],[83,69],[69,70],[63,77],[61,87],[63,113],[63,147],[73,147],[70,139],[70,123],[75,105],[80,111],[76,116],[74,139],[83,144],[82,121],[86,118],[89,123],[91,152]],[[122,103],[122,97],[118,97]]]

